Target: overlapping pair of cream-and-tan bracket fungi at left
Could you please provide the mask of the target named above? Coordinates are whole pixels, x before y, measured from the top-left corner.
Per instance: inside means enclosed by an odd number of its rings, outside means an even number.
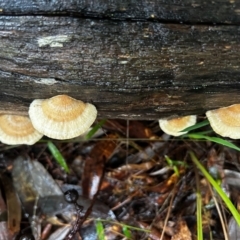
[[[43,135],[54,139],[70,139],[86,132],[97,117],[90,103],[58,95],[34,100],[29,117],[0,115],[0,141],[5,144],[32,145]]]

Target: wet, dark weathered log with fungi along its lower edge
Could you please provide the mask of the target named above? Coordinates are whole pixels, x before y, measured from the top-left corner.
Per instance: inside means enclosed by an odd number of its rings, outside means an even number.
[[[240,103],[239,1],[86,2],[0,0],[1,112],[57,94],[107,118]]]

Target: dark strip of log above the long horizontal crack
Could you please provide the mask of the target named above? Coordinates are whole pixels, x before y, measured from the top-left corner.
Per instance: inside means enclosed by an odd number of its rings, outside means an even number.
[[[120,20],[240,22],[239,0],[0,0],[2,14],[61,14]]]

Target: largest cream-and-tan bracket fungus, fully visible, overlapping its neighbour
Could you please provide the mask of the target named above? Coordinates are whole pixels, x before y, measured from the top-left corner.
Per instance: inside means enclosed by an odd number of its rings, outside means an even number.
[[[29,108],[33,126],[55,139],[70,139],[86,132],[97,117],[90,103],[58,95],[50,99],[34,100]]]

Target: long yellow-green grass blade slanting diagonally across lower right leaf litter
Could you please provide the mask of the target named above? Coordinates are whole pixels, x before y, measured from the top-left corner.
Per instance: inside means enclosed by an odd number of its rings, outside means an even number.
[[[235,206],[232,204],[231,200],[228,198],[228,196],[225,194],[225,192],[221,189],[221,187],[216,183],[216,181],[212,178],[212,176],[207,172],[207,170],[204,168],[204,166],[198,161],[195,154],[193,152],[189,152],[189,154],[190,154],[191,159],[194,162],[194,164],[199,168],[199,170],[202,172],[202,174],[205,176],[205,178],[214,187],[214,189],[219,194],[219,196],[222,198],[222,200],[225,202],[229,211],[232,213],[234,219],[240,226],[240,214],[238,213]]]

